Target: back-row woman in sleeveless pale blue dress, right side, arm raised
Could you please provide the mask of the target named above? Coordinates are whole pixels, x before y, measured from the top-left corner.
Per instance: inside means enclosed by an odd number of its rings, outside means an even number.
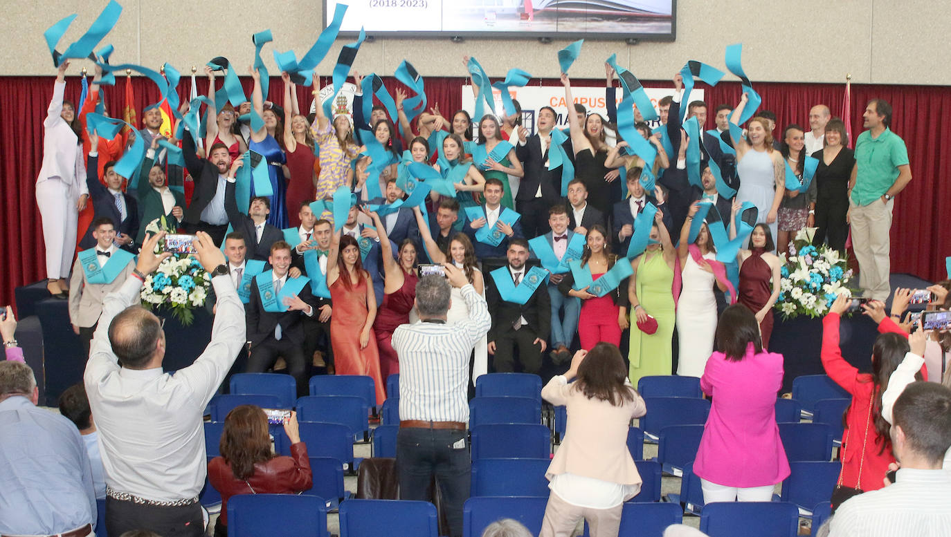
[[[740,115],[747,105],[747,94],[740,98],[729,120],[739,124]],[[786,162],[772,146],[772,133],[767,120],[753,118],[747,127],[747,139],[733,139],[736,148],[736,171],[740,176],[740,190],[736,201],[749,201],[759,213],[757,224],[766,224],[772,236],[778,236],[776,218],[780,203],[786,194]],[[775,250],[773,251],[775,253]]]

